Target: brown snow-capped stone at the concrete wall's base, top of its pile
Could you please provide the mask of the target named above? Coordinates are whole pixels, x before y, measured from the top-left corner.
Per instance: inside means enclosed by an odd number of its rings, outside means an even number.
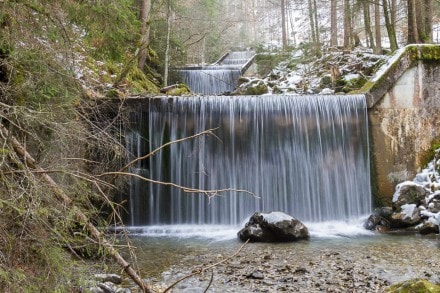
[[[405,204],[415,204],[419,206],[430,191],[411,181],[405,181],[396,186],[396,192],[393,195],[393,209],[400,211],[401,206]]]

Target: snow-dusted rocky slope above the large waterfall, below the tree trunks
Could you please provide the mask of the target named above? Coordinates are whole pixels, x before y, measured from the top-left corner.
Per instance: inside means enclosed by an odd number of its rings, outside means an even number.
[[[322,57],[310,57],[310,52],[295,50],[262,80],[268,94],[333,94],[359,89],[391,57],[373,54],[371,49],[353,51],[323,50]],[[255,81],[254,81],[255,83]],[[249,83],[240,85],[237,92]]]

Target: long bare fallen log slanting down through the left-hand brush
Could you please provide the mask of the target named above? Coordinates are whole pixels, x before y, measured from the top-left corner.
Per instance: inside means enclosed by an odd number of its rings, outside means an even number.
[[[58,200],[62,201],[66,207],[70,208],[75,215],[78,222],[84,225],[90,235],[95,238],[100,245],[102,245],[107,253],[123,268],[125,273],[142,289],[143,292],[153,292],[150,286],[142,280],[137,272],[130,266],[130,264],[119,254],[113,245],[102,235],[101,232],[90,222],[88,217],[72,202],[72,199],[63,191],[62,188],[50,177],[46,170],[38,166],[37,161],[26,151],[26,148],[13,136],[10,135],[8,129],[0,123],[0,134],[8,139],[14,149],[15,153],[22,158],[24,163],[31,169],[37,171],[36,174],[48,184],[52,189]]]

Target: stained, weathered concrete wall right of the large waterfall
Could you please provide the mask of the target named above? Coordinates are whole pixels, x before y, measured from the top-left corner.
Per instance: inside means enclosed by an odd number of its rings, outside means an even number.
[[[372,180],[384,205],[396,184],[420,171],[422,157],[440,138],[440,60],[414,52],[390,64],[367,94]]]

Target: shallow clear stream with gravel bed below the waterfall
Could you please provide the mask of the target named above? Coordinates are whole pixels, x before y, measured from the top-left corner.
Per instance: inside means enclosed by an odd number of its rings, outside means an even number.
[[[138,262],[156,288],[205,269],[173,292],[383,292],[412,278],[440,283],[440,236],[380,235],[248,243],[136,238]],[[209,266],[226,260],[213,268]]]

